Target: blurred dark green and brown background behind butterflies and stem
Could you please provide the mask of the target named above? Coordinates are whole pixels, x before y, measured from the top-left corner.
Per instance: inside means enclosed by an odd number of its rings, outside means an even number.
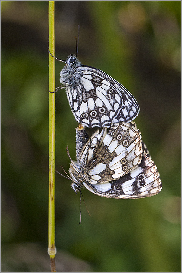
[[[180,271],[181,2],[56,1],[55,56],[106,72],[137,99],[160,194],[103,198],[56,174],[57,271]],[[48,1],[1,1],[2,271],[49,271]],[[56,87],[63,63],[55,62]],[[56,93],[56,169],[76,156],[65,90]]]

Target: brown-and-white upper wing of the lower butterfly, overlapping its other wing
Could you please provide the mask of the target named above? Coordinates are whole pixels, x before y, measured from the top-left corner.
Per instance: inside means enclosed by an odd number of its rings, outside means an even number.
[[[105,183],[122,177],[140,164],[142,151],[140,131],[132,123],[114,123],[85,164],[88,181]]]

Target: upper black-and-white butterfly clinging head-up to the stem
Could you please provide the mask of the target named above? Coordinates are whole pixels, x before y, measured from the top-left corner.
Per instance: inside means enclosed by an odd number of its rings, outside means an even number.
[[[76,55],[57,60],[66,63],[60,72],[64,85],[61,88],[66,88],[71,111],[81,125],[110,127],[111,123],[129,123],[138,116],[136,99],[115,79],[97,68],[82,65]]]

